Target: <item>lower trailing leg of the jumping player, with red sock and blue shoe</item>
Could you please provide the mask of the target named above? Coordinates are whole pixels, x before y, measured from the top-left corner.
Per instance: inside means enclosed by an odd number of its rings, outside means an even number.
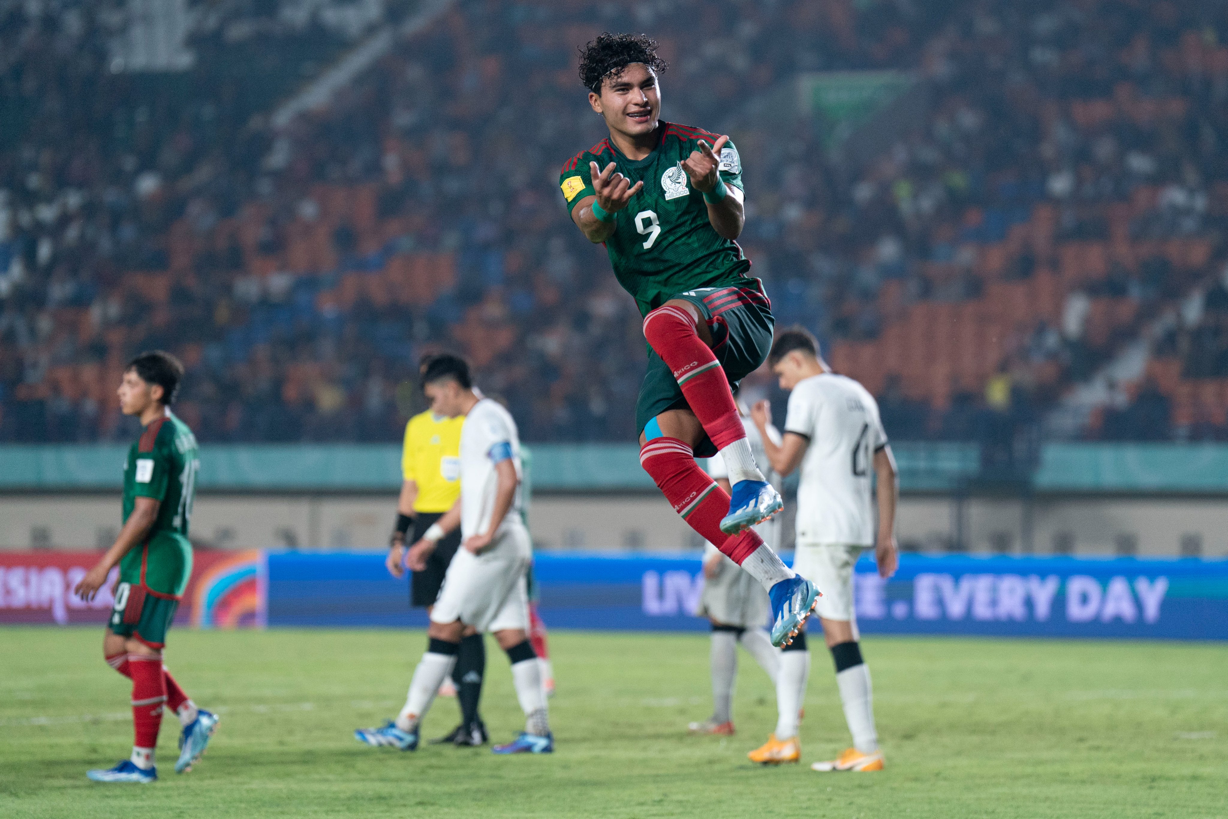
[[[819,589],[795,576],[754,529],[733,535],[721,530],[729,496],[695,463],[695,446],[704,432],[690,410],[666,410],[652,419],[640,435],[640,464],[652,475],[674,511],[700,537],[716,545],[768,591],[772,608],[771,643],[783,645],[810,616]]]

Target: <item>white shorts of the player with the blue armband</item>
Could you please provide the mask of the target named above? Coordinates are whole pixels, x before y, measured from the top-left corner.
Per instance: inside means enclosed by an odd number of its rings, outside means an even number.
[[[480,632],[529,627],[526,573],[533,561],[529,533],[508,526],[480,555],[463,545],[448,564],[431,621],[460,623]]]

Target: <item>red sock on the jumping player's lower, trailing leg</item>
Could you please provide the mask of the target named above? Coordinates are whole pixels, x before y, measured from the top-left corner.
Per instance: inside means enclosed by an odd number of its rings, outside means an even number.
[[[754,529],[732,537],[721,532],[721,518],[729,511],[729,496],[699,468],[695,453],[684,442],[653,438],[640,449],[640,464],[686,524],[733,562],[740,566],[763,545],[763,538]]]

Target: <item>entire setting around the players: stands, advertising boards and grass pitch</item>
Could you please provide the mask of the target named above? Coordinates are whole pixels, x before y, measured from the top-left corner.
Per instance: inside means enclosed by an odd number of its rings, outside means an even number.
[[[640,468],[640,317],[558,189],[604,135],[602,31],[661,42],[663,118],[732,135],[779,325],[878,397],[876,777],[750,766],[749,662],[739,733],[685,736],[701,544]],[[168,662],[223,722],[141,813],[1218,815],[1226,228],[1219,1],[0,0],[0,814],[133,815],[84,777],[129,742],[109,593],[69,591],[120,524],[123,363],[162,347],[203,447]],[[528,766],[351,736],[421,648],[383,549],[438,350],[530,459],[559,753]],[[847,739],[822,654],[806,761]],[[521,718],[492,650],[483,711]]]

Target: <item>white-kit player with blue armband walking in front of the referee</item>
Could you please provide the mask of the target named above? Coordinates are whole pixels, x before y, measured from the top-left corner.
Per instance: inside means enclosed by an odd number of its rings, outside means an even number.
[[[440,683],[456,663],[467,634],[492,631],[512,663],[512,683],[526,716],[524,731],[496,754],[544,754],[554,736],[542,685],[542,664],[529,642],[524,575],[533,560],[521,517],[521,443],[506,409],[474,394],[469,366],[456,356],[431,360],[422,373],[431,409],[448,417],[464,415],[460,429],[460,497],[410,548],[408,564],[421,571],[436,544],[460,526],[462,545],[448,565],[440,599],[431,609],[427,650],[414,670],[405,707],[381,728],[354,732],[375,747],[414,750]]]

